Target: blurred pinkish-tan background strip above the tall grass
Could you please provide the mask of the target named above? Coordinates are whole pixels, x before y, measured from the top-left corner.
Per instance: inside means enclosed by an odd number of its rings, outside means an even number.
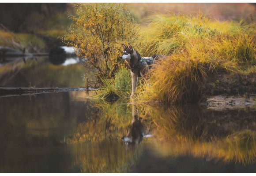
[[[220,21],[237,20],[244,18],[250,20],[250,15],[256,17],[256,7],[251,3],[128,3],[129,9],[140,21],[148,16],[158,13],[195,14],[202,11]]]

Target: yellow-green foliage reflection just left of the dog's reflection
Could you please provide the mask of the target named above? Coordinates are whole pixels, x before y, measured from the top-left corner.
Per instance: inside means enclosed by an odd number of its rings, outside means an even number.
[[[79,124],[75,134],[66,139],[67,143],[121,139],[132,121],[131,106],[105,101],[94,104],[97,112]]]

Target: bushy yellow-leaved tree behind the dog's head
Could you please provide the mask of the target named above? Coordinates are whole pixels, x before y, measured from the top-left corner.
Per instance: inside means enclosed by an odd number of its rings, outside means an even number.
[[[124,62],[119,58],[121,44],[141,46],[139,25],[125,4],[86,3],[76,5],[76,15],[63,40],[79,48],[78,55],[87,61],[87,69],[96,81],[112,78]]]

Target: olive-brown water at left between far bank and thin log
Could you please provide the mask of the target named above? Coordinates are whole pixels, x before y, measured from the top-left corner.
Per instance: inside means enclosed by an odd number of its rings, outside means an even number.
[[[82,87],[86,73],[82,64],[55,66],[48,58],[29,59],[11,62],[0,68],[2,87]],[[90,76],[90,75],[89,75]]]

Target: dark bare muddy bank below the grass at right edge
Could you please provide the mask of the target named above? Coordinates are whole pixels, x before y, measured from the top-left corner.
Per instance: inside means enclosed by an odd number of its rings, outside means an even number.
[[[201,105],[215,110],[256,109],[256,73],[218,74],[205,84]]]

